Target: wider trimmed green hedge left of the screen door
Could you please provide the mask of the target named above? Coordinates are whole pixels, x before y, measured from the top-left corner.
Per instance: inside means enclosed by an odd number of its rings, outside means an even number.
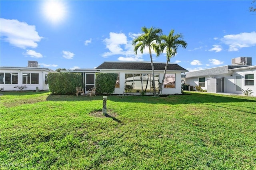
[[[49,73],[48,83],[52,94],[73,95],[82,81],[81,73]]]

